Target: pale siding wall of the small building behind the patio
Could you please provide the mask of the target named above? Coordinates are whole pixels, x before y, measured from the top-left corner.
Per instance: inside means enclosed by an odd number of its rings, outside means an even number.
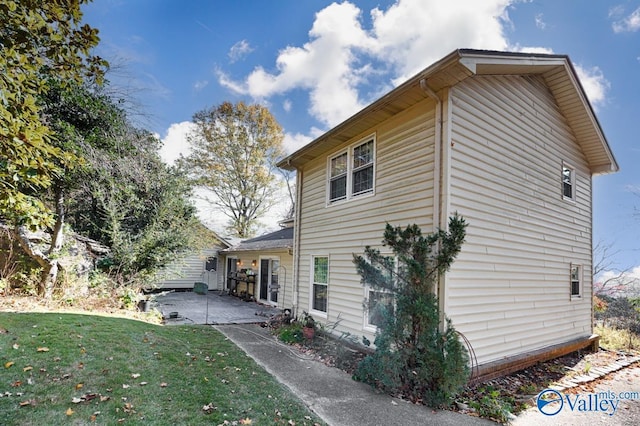
[[[207,272],[205,264],[207,257],[218,258],[217,271]],[[204,282],[209,286],[209,290],[221,288],[222,276],[224,275],[224,264],[218,255],[218,249],[204,249],[197,253],[190,253],[182,259],[172,262],[165,268],[168,274],[158,288],[193,288],[195,282]]]

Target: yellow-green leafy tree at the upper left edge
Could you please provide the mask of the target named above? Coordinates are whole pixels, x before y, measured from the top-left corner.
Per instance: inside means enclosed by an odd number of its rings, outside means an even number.
[[[107,63],[90,50],[98,31],[80,26],[85,0],[0,2],[0,218],[32,228],[51,225],[41,197],[78,157],[51,143],[38,96],[49,77],[101,81]]]

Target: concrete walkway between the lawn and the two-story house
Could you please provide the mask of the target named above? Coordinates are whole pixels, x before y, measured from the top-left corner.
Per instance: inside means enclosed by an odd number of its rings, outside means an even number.
[[[257,325],[219,325],[216,329],[331,426],[495,425],[478,417],[432,410],[377,393],[342,370],[304,357]]]

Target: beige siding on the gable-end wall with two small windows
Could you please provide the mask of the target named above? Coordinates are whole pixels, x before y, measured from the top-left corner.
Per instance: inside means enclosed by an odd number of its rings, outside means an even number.
[[[474,77],[451,94],[451,212],[469,226],[446,314],[479,363],[591,333],[591,175],[538,77]],[[563,200],[562,162],[576,201]],[[582,298],[570,298],[570,265]]]

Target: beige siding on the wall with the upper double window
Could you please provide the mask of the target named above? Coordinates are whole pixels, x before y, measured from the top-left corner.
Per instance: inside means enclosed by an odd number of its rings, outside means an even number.
[[[363,331],[364,286],[355,271],[353,254],[362,254],[366,245],[382,248],[387,222],[393,226],[417,223],[431,231],[434,114],[435,104],[425,100],[305,165],[300,201],[298,311],[310,310],[312,256],[328,256],[326,321],[339,320],[341,330],[367,334]],[[328,204],[327,158],[372,134],[376,158],[374,194]]]

